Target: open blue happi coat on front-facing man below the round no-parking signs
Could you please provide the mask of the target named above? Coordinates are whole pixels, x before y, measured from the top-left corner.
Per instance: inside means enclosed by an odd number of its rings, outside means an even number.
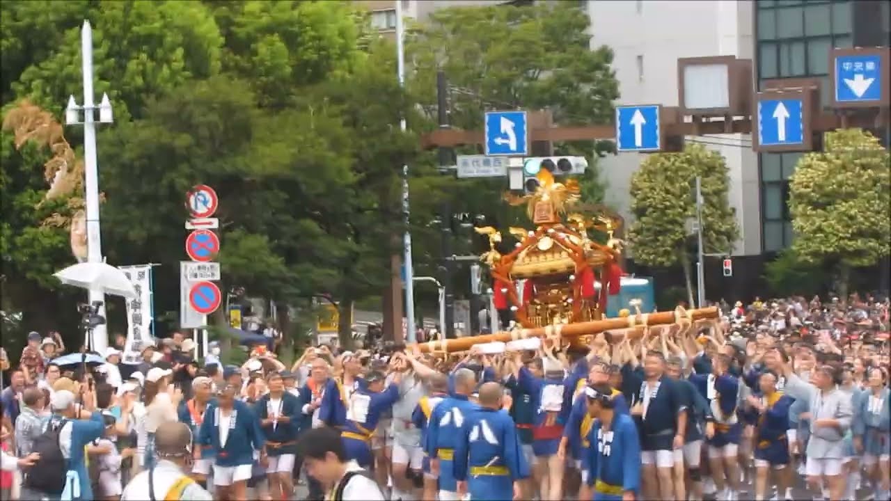
[[[208,406],[201,423],[198,442],[201,447],[212,447],[217,453],[217,466],[239,466],[254,463],[254,451],[263,449],[266,438],[260,429],[257,415],[254,415],[248,404],[235,400],[233,402],[232,420],[225,446],[220,446],[220,409],[217,405]]]

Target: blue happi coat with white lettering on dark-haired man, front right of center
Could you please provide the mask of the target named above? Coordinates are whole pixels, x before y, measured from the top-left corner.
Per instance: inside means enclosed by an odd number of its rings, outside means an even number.
[[[594,487],[594,500],[618,501],[625,491],[640,497],[641,445],[630,415],[613,415],[612,429],[601,430],[595,420],[588,435],[585,483]]]

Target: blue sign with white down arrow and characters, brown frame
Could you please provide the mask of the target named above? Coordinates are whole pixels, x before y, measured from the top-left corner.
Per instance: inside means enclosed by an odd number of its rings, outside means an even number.
[[[847,108],[887,104],[887,51],[887,47],[833,50],[833,105]]]

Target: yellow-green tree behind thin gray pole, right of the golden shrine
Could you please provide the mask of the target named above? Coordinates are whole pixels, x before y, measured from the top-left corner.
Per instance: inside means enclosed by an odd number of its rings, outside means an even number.
[[[696,177],[703,198],[702,235],[705,252],[732,250],[739,235],[727,201],[729,179],[723,156],[699,144],[683,152],[654,153],[631,179],[634,224],[628,235],[635,262],[650,267],[681,265],[690,304],[691,246],[689,221],[696,217]],[[692,248],[692,249],[691,249]]]

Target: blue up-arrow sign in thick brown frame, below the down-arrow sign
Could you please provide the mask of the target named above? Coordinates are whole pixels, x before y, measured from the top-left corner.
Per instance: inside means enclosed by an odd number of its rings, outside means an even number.
[[[761,92],[756,96],[758,152],[806,152],[811,150],[811,93],[802,89]]]

